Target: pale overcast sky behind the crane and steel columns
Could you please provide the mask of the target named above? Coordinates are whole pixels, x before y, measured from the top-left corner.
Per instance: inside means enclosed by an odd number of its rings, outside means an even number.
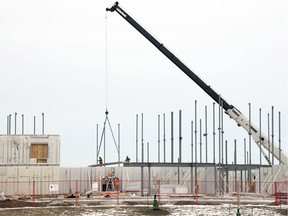
[[[21,133],[22,114],[25,134],[33,133],[33,116],[37,117],[36,132],[41,133],[41,113],[45,113],[45,133],[61,136],[61,166],[87,166],[96,163],[96,125],[100,137],[108,108],[116,139],[117,125],[121,127],[121,160],[129,155],[135,161],[136,114],[143,113],[145,161],[147,142],[150,161],[158,161],[157,118],[161,115],[163,161],[165,113],[166,161],[171,161],[170,113],[174,112],[176,161],[178,112],[182,110],[182,161],[190,162],[190,125],[197,100],[202,133],[204,107],[208,110],[208,161],[212,162],[212,99],[116,12],[105,18],[105,8],[113,3],[0,1],[0,133],[7,132],[7,115],[15,112],[17,133]],[[122,0],[120,5],[247,117],[251,103],[252,122],[258,126],[261,108],[266,134],[267,116],[274,106],[277,145],[280,111],[280,138],[288,152],[287,1]],[[106,161],[117,161],[106,129]],[[248,140],[244,129],[224,115],[224,139],[231,153],[237,140],[239,163],[243,163],[244,138]],[[139,128],[139,145],[140,139]],[[218,132],[216,140],[218,146]],[[202,143],[204,153],[204,137]],[[259,153],[255,143],[252,150],[253,155]],[[252,162],[259,162],[259,157]]]

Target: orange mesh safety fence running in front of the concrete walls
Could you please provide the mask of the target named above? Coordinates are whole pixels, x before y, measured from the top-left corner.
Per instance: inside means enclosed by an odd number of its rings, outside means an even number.
[[[223,185],[222,185],[223,184]],[[273,183],[271,183],[273,185]],[[287,204],[287,182],[275,182],[275,204]],[[224,189],[221,191],[221,189]],[[249,191],[245,182],[230,181],[188,181],[188,180],[120,180],[114,176],[106,176],[97,180],[59,180],[59,181],[5,181],[0,182],[0,192],[11,197],[45,197],[77,198],[86,196],[181,196],[189,195],[198,202],[199,196],[225,193],[241,193]],[[215,192],[216,191],[216,192]],[[77,205],[77,203],[76,203]]]

